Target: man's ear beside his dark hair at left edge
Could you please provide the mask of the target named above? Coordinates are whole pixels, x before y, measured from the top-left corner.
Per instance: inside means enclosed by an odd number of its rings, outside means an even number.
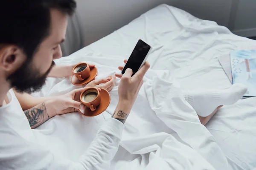
[[[14,73],[25,60],[23,51],[15,45],[7,45],[0,49],[0,68],[7,75]]]

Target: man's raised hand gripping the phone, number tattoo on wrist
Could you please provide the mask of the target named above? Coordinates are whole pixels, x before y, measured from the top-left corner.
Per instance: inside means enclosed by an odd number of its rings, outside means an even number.
[[[126,63],[127,60],[124,60]],[[123,67],[118,67],[119,70],[122,70]],[[132,70],[130,68],[126,69],[125,74],[115,74],[116,77],[120,78],[120,83],[118,87],[118,96],[119,102],[116,106],[116,110],[114,111],[112,117],[119,120],[122,123],[125,123],[132,106],[138,96],[141,86],[143,85],[143,77],[145,73],[150,68],[148,62],[145,62],[142,68],[131,77]]]

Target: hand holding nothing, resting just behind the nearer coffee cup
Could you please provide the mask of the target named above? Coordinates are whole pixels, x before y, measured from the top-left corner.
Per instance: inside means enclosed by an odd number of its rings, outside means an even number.
[[[111,91],[111,89],[115,85],[115,76],[108,76],[103,79],[96,79],[91,82],[89,82],[86,87],[96,87],[96,88],[104,88],[107,91]]]

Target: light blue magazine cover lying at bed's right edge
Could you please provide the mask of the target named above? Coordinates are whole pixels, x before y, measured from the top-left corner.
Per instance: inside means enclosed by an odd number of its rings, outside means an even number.
[[[232,51],[230,62],[233,84],[247,86],[244,96],[256,96],[256,50]]]

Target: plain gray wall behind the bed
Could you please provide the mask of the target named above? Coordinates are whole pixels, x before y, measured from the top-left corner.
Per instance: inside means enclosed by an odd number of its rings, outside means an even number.
[[[236,34],[256,36],[256,0],[77,0],[77,3],[85,45],[163,3],[201,19],[216,21]]]

